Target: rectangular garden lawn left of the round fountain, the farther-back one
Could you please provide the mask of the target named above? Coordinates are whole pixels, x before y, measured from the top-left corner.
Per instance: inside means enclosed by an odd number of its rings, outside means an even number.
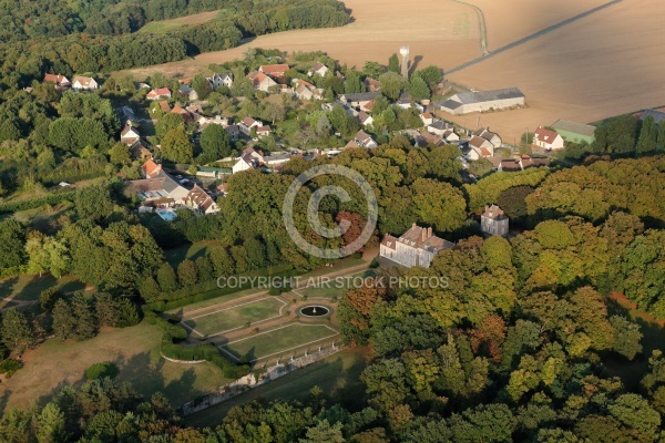
[[[284,305],[275,297],[268,296],[232,308],[212,309],[209,312],[185,319],[184,323],[202,336],[211,336],[241,328],[246,323],[279,317],[279,308]]]

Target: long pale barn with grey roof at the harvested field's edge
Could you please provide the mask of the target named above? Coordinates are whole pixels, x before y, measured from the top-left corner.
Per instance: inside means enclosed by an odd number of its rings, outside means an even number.
[[[439,106],[441,111],[460,115],[471,112],[523,106],[524,99],[522,91],[516,87],[508,87],[492,91],[461,92],[454,94]]]

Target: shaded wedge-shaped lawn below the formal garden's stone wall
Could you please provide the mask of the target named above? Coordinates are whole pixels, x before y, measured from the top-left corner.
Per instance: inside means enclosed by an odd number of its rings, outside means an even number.
[[[222,420],[232,408],[253,400],[265,402],[276,400],[304,401],[309,398],[309,391],[314,387],[319,387],[324,391],[324,395],[331,399],[331,403],[339,402],[356,409],[362,401],[362,395],[358,393],[364,392],[360,374],[366,365],[366,351],[365,348],[357,348],[338,352],[224,403],[192,414],[185,418],[185,423],[196,427],[214,427],[222,423]]]

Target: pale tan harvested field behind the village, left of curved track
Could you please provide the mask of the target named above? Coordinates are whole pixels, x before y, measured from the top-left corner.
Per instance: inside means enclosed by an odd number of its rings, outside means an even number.
[[[367,60],[382,63],[402,44],[421,56],[419,65],[458,65],[481,54],[478,19],[472,8],[452,1],[422,0],[418,8],[405,8],[396,0],[347,0],[354,21],[344,28],[296,30],[262,35],[228,51],[201,54],[194,60],[132,70],[137,76],[162,71],[191,75],[211,63],[239,59],[247,48],[277,48],[284,51],[325,51],[349,66]],[[428,11],[428,13],[422,13]],[[436,19],[434,19],[436,18]]]

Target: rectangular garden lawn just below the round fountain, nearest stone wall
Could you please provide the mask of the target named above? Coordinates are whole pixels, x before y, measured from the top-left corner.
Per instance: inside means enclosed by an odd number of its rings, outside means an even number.
[[[336,334],[332,328],[325,324],[290,323],[232,341],[223,348],[238,359],[246,358],[248,361],[255,361],[306,347],[310,342],[331,339]]]

